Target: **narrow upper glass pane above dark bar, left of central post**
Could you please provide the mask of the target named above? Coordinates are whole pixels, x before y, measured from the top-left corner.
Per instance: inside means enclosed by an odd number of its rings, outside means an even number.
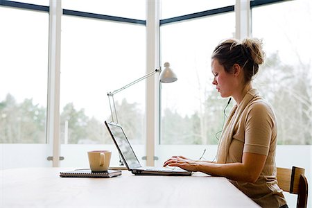
[[[146,19],[145,0],[62,0],[62,8],[131,19]]]

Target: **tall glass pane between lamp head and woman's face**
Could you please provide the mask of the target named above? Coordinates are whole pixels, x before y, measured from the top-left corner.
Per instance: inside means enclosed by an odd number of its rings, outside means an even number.
[[[234,19],[230,12],[161,27],[162,62],[177,74],[177,82],[162,84],[161,144],[218,143],[227,101],[211,84],[210,57],[221,40],[234,37]]]

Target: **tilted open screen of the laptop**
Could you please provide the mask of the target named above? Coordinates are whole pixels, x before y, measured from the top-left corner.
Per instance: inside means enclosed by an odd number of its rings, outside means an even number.
[[[125,136],[125,132],[123,132],[123,128],[121,128],[120,125],[108,123],[106,121],[105,123],[107,128],[110,130],[112,139],[114,140],[117,148],[119,149],[121,156],[123,156],[125,164],[128,166],[128,168],[132,170],[134,168],[141,167],[141,164],[139,163],[139,160],[137,159],[135,152],[132,150],[129,141]]]

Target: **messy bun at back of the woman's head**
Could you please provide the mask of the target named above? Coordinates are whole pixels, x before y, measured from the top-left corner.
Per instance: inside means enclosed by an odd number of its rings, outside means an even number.
[[[241,45],[248,51],[246,53],[250,60],[253,60],[255,64],[262,64],[264,60],[264,52],[262,50],[262,40],[257,38],[245,38],[242,40]]]

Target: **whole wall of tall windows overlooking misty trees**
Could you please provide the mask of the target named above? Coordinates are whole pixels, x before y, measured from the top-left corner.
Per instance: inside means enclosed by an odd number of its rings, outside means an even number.
[[[146,63],[146,1],[85,2],[62,0],[61,3],[64,13],[60,32],[60,135],[64,144],[61,155],[65,157],[62,166],[85,166],[82,149],[115,148],[103,125],[104,120],[110,121],[107,92],[144,76],[146,65],[150,64]],[[175,153],[198,158],[209,146],[205,158],[214,159],[214,144],[218,143],[218,132],[226,119],[223,109],[227,99],[220,98],[211,85],[210,56],[218,42],[234,37],[235,2],[155,2],[162,3],[161,51],[155,53],[159,53],[159,63],[170,62],[178,76],[176,83],[160,85],[158,144],[161,145],[145,147],[144,132],[150,132],[144,129],[145,83],[137,83],[114,96],[119,123],[132,139],[139,158],[146,155],[146,150],[155,150],[161,165]],[[259,2],[251,3],[252,34],[263,38],[268,60],[254,84],[279,117],[279,144],[311,144],[311,53],[305,51],[311,47],[302,42],[311,37],[308,9],[311,1],[255,6]],[[6,158],[12,159],[1,164],[5,168],[20,166],[12,164],[16,159],[9,154],[17,149],[31,156],[24,158],[27,162],[19,161],[24,166],[36,159],[33,164],[50,166],[51,162],[46,160],[53,149],[51,143],[46,144],[49,1],[2,0],[0,5],[0,143],[11,143],[1,146],[6,150]],[[107,20],[107,15],[118,20]],[[181,15],[184,17],[171,18]],[[231,104],[227,111],[230,109]],[[29,152],[32,154],[28,155]],[[306,150],[297,152],[304,154]],[[287,153],[279,155],[287,156]],[[116,159],[112,162],[117,161],[118,154],[114,155]]]

